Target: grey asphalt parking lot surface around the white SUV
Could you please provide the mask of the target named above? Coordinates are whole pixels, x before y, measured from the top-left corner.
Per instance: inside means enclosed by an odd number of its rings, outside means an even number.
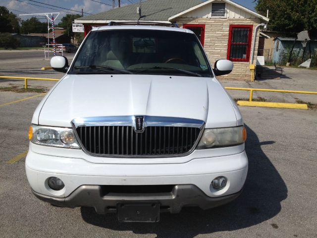
[[[241,196],[207,211],[161,214],[159,223],[128,224],[91,208],[54,207],[32,194],[24,161],[28,127],[42,98],[0,91],[0,238],[317,238],[316,110],[240,107],[249,157]]]

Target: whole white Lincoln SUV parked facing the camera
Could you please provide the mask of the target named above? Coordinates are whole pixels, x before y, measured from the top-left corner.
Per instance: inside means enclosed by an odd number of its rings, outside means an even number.
[[[33,193],[63,207],[94,207],[118,221],[159,221],[183,206],[236,198],[248,159],[241,114],[187,29],[93,29],[37,107],[26,174]]]

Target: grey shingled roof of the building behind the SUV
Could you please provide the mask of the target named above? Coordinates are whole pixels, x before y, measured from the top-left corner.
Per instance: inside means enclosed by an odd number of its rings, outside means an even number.
[[[147,0],[142,2],[142,21],[168,21],[168,18],[188,8],[202,3],[202,0]],[[137,7],[139,3],[114,8],[94,15],[80,17],[75,22],[96,23],[110,20],[137,21]]]

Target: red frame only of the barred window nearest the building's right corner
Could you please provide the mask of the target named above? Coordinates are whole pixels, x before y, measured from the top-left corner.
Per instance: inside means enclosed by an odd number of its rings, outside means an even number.
[[[233,28],[248,28],[249,29],[249,35],[247,38],[248,43],[247,43],[246,59],[241,59],[241,58],[230,59],[231,45],[241,44],[241,43],[233,43],[233,44],[231,43]],[[231,60],[234,62],[249,62],[250,61],[251,46],[252,46],[252,35],[253,35],[253,25],[230,25],[229,26],[229,38],[228,38],[228,49],[227,49],[227,60]]]

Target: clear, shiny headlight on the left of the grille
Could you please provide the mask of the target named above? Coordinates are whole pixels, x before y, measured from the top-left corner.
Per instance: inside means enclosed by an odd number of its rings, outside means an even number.
[[[34,144],[66,148],[80,148],[71,128],[32,125],[29,139]]]

